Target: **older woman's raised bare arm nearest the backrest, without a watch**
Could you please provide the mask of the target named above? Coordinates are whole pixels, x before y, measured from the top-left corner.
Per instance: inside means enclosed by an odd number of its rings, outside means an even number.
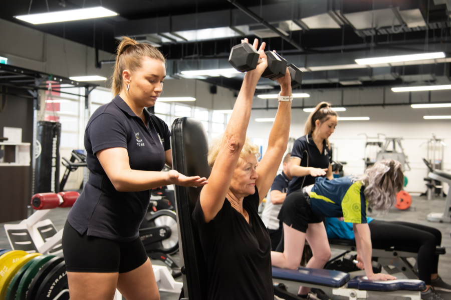
[[[245,41],[247,42],[247,39]],[[258,40],[255,39],[254,47],[257,49],[257,46]],[[200,192],[200,206],[202,207],[205,222],[212,220],[221,209],[229,190],[235,167],[240,158],[240,153],[246,140],[249,118],[251,117],[255,87],[268,65],[264,50],[265,43],[263,42],[259,49],[262,61],[255,70],[248,71],[245,75],[232,116],[227,128],[225,128],[219,153],[208,177],[208,184]],[[272,178],[274,179],[274,176]]]

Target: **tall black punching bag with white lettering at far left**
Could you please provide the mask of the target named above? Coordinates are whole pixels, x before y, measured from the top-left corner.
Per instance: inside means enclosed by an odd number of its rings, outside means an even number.
[[[59,192],[61,123],[39,121],[37,133],[42,150],[36,153],[35,193]]]

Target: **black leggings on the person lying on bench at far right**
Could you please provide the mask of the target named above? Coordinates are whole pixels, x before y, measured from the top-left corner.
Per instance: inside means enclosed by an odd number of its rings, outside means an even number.
[[[438,255],[435,255],[435,246],[441,244],[438,229],[410,222],[381,220],[372,220],[369,227],[373,248],[399,246],[418,251],[418,277],[430,284],[430,275],[438,272]]]

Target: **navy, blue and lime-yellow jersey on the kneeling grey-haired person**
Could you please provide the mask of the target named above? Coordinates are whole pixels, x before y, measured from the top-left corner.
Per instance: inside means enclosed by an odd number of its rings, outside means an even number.
[[[310,191],[312,212],[317,216],[343,216],[345,222],[367,223],[364,189],[363,182],[353,182],[351,176],[316,178]]]

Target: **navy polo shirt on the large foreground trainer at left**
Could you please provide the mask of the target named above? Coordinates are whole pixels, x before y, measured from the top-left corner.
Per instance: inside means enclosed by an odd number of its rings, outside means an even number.
[[[150,190],[120,192],[114,188],[95,155],[106,148],[127,149],[130,168],[161,171],[170,149],[167,124],[144,109],[146,124],[119,96],[93,113],[85,129],[89,179],[67,217],[80,233],[116,241],[138,237],[150,202]]]

